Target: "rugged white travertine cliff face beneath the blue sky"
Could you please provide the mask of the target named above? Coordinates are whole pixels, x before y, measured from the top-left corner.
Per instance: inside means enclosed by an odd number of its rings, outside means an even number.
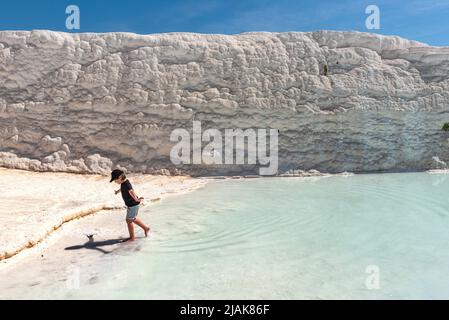
[[[199,120],[279,129],[280,172],[445,166],[448,74],[449,48],[357,32],[0,32],[0,165],[257,173],[173,165]]]

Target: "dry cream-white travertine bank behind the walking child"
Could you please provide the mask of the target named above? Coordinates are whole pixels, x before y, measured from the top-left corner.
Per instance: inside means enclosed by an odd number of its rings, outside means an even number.
[[[189,177],[130,175],[146,204],[201,187]],[[37,173],[0,168],[0,260],[31,248],[65,222],[95,212],[123,208],[116,184],[100,175]]]

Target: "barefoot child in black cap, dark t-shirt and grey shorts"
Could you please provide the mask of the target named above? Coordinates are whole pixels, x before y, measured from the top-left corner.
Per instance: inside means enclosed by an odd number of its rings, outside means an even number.
[[[111,181],[120,185],[120,189],[115,191],[115,194],[122,193],[123,201],[127,206],[126,210],[126,223],[128,225],[129,239],[126,241],[134,241],[134,223],[143,229],[145,237],[148,236],[150,227],[148,227],[142,220],[137,218],[139,213],[139,205],[144,200],[142,197],[137,197],[133,190],[131,182],[126,178],[125,173],[122,170],[115,169],[111,172]]]

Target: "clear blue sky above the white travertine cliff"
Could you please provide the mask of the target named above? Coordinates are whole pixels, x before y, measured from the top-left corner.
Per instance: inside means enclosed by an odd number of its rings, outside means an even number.
[[[70,4],[81,11],[79,32],[358,30],[449,46],[449,0],[13,0],[1,5],[0,30],[68,31]],[[365,27],[370,4],[380,8],[380,30]]]

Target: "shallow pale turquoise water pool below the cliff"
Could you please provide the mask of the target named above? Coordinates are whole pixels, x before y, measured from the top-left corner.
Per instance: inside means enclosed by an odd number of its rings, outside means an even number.
[[[39,283],[4,281],[1,296],[449,298],[448,195],[449,174],[213,181],[143,207],[149,239],[59,259],[80,265],[79,287],[49,258]]]

